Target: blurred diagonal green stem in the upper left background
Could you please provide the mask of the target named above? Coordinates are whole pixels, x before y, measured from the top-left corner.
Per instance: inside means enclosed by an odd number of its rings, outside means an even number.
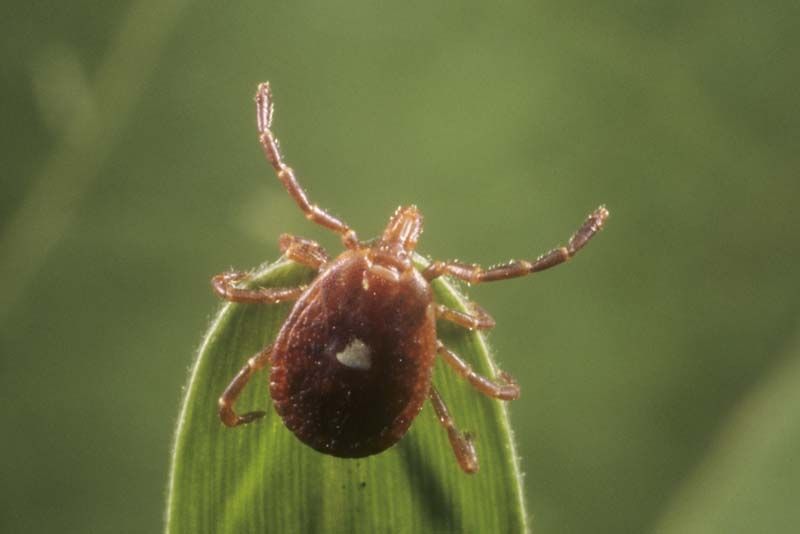
[[[114,34],[94,80],[83,88],[84,92],[67,92],[81,87],[80,82],[67,82],[66,87],[56,87],[45,95],[56,95],[55,104],[50,103],[56,107],[75,106],[78,100],[84,100],[84,105],[68,112],[71,120],[64,126],[60,142],[45,159],[19,208],[0,227],[0,279],[7,282],[0,292],[0,320],[10,313],[39,273],[47,254],[75,220],[82,197],[99,178],[186,3],[131,3],[122,27]],[[47,32],[43,38],[50,40],[52,36]],[[57,61],[63,61],[63,54]],[[58,85],[59,80],[39,83]]]

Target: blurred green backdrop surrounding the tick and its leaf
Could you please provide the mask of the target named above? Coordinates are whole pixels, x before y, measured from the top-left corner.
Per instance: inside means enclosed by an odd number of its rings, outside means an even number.
[[[423,254],[568,266],[471,290],[522,384],[537,532],[800,522],[800,4],[6,5],[0,531],[156,532],[209,278],[338,250],[312,198]]]

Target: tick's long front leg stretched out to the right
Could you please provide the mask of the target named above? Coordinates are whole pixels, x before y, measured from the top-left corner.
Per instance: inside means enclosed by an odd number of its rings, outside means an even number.
[[[589,214],[589,217],[586,218],[586,221],[578,231],[572,234],[567,246],[554,248],[550,252],[542,254],[533,262],[512,260],[503,265],[484,269],[480,265],[469,265],[455,261],[435,261],[422,272],[422,275],[428,280],[433,280],[438,276],[448,274],[470,284],[477,284],[480,282],[506,280],[544,271],[564,263],[574,256],[592,236],[603,228],[603,223],[607,218],[608,210],[604,206],[600,206]]]

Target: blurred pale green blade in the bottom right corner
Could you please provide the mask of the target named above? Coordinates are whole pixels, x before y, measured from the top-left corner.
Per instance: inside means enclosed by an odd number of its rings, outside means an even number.
[[[723,429],[656,532],[798,532],[800,336]]]

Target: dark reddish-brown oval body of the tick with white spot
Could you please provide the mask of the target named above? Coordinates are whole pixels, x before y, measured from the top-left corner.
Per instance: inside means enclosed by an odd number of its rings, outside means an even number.
[[[430,389],[436,354],[430,286],[345,252],[297,301],[275,341],[270,393],[311,447],[362,457],[396,443]]]

